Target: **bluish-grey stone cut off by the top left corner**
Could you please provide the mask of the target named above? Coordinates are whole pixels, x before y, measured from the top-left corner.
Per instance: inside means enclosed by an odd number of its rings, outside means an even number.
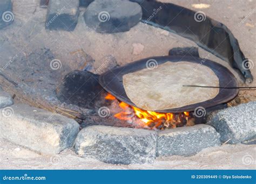
[[[0,30],[14,22],[11,0],[0,1]]]

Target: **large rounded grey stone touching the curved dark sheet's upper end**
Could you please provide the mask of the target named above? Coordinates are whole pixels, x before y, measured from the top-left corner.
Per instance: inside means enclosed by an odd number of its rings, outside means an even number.
[[[120,0],[96,0],[84,13],[87,26],[99,33],[129,31],[142,19],[142,8],[138,3]]]

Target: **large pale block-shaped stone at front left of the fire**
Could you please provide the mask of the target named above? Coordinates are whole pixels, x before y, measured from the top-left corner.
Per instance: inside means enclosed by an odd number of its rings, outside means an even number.
[[[58,154],[71,147],[79,131],[75,120],[26,104],[1,111],[0,137],[39,153]]]

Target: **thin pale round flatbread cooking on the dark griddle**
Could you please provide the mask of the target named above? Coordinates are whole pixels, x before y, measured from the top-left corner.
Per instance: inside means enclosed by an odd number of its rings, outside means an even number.
[[[126,95],[144,110],[165,110],[211,100],[218,88],[183,85],[219,86],[213,70],[198,63],[167,61],[156,69],[142,69],[123,75]]]

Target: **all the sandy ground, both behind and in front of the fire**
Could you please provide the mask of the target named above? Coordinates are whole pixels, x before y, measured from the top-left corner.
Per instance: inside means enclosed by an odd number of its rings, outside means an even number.
[[[44,22],[46,9],[39,9],[39,1],[14,0],[15,22],[11,26],[0,31],[0,64],[4,66],[9,57],[18,55],[18,59],[5,70],[5,73],[24,85],[40,89],[35,93],[44,95],[51,94],[55,90],[62,77],[73,69],[83,66],[85,59],[83,54],[77,52],[83,48],[96,62],[100,62],[106,55],[112,54],[119,65],[147,58],[149,56],[167,55],[173,47],[196,46],[192,41],[180,38],[175,34],[168,33],[152,26],[143,26],[139,23],[129,32],[117,34],[99,34],[87,27],[83,21],[83,9],[81,9],[78,25],[73,32],[46,31]],[[240,47],[247,58],[251,59],[256,66],[256,13],[250,12],[255,8],[255,0],[172,0],[172,2],[196,11],[204,11],[212,17],[227,25],[234,36],[239,40]],[[204,3],[208,8],[194,4]],[[207,6],[206,5],[206,6]],[[198,8],[200,7],[200,8]],[[245,18],[245,22],[238,24]],[[28,18],[29,17],[29,18]],[[3,44],[2,44],[3,43]],[[134,47],[140,46],[140,51],[134,52]],[[143,46],[141,46],[143,45]],[[50,73],[49,80],[44,80],[45,71],[36,68],[48,67],[48,63],[32,63],[23,65],[22,58],[33,53],[35,49],[49,48],[55,59],[62,61],[62,68],[55,73]],[[7,53],[7,54],[6,54]],[[208,52],[199,49],[203,58]],[[210,54],[209,59],[222,63],[230,68],[228,63]],[[37,61],[35,61],[37,62]],[[238,76],[233,69],[230,70]],[[24,72],[22,72],[24,71]],[[36,71],[41,82],[32,82],[35,77],[30,73]],[[252,69],[256,78],[256,67]],[[23,81],[21,81],[23,80]],[[241,82],[241,80],[238,78]],[[256,80],[251,84],[256,86]],[[11,91],[10,88],[5,90]],[[240,96],[245,101],[255,100],[255,91],[242,91]],[[65,150],[60,155],[53,157],[39,155],[25,148],[0,140],[0,168],[1,169],[255,169],[255,145],[223,145],[221,147],[207,148],[193,157],[166,157],[158,158],[152,165],[109,165],[97,160],[79,158],[71,150]],[[243,159],[244,158],[244,159]],[[244,164],[243,164],[244,160]],[[245,160],[249,162],[245,162]],[[251,161],[250,161],[251,160]],[[246,165],[248,164],[248,165]]]

